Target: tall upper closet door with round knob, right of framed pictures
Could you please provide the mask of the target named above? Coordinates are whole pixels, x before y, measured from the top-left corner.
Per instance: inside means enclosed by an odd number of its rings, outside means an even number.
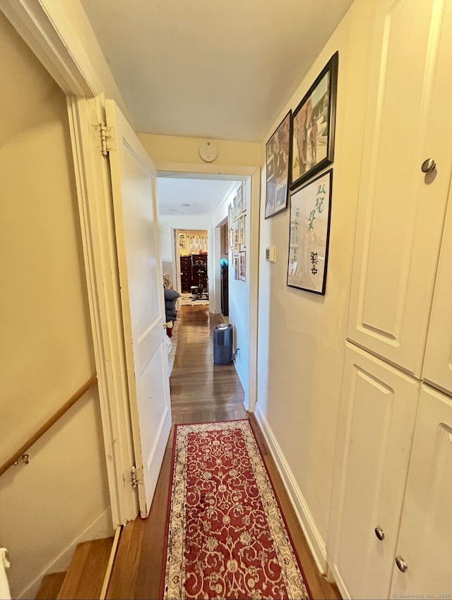
[[[445,3],[376,7],[347,327],[349,340],[417,378],[452,164]],[[429,157],[437,167],[424,174]]]

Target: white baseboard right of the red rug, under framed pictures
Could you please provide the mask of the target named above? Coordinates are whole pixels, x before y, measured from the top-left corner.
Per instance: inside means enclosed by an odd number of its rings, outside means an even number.
[[[317,568],[319,569],[319,572],[324,575],[327,571],[326,544],[322,539],[319,529],[316,527],[302,491],[300,490],[297,481],[295,481],[295,477],[285,460],[283,450],[281,450],[267,419],[259,410],[258,405],[256,406],[256,412],[254,414],[258,424],[261,426],[263,437],[265,438],[270,454],[275,461],[276,468],[278,469],[281,479],[283,479],[283,484],[295,510],[295,515],[297,515],[299,524],[303,529],[304,536],[307,539],[309,549],[311,550]]]

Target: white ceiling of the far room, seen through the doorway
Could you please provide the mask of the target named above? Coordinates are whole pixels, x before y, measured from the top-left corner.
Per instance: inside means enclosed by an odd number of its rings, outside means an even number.
[[[213,215],[233,181],[159,177],[157,200],[160,215],[193,217]]]

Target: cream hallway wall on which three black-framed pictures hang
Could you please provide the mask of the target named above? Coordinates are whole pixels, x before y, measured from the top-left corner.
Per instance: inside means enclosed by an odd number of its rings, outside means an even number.
[[[347,297],[364,128],[371,1],[356,0],[269,128],[261,144],[261,258],[257,416],[277,457],[321,568],[333,478]],[[264,219],[265,144],[339,50],[338,104],[328,277],[325,296],[289,288],[290,210]],[[276,263],[263,248],[276,246]]]

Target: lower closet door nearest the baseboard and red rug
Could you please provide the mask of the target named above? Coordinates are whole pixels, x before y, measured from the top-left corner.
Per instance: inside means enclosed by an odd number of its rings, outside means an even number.
[[[347,344],[330,562],[344,598],[388,598],[419,388]]]

